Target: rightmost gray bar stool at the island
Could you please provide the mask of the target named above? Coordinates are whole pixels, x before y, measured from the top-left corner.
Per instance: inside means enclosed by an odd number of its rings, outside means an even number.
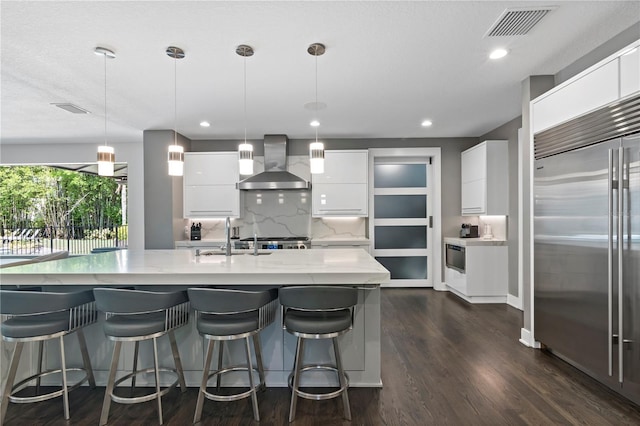
[[[349,407],[349,377],[342,367],[337,337],[353,327],[353,310],[358,303],[358,290],[339,286],[292,286],[280,289],[283,328],[298,338],[293,372],[289,375],[291,405],[289,422],[296,416],[298,397],[313,400],[331,399],[342,395],[344,417],[351,420]],[[335,365],[303,362],[305,339],[331,339]],[[326,393],[300,390],[300,375],[305,371],[330,370],[338,376],[338,389]]]

